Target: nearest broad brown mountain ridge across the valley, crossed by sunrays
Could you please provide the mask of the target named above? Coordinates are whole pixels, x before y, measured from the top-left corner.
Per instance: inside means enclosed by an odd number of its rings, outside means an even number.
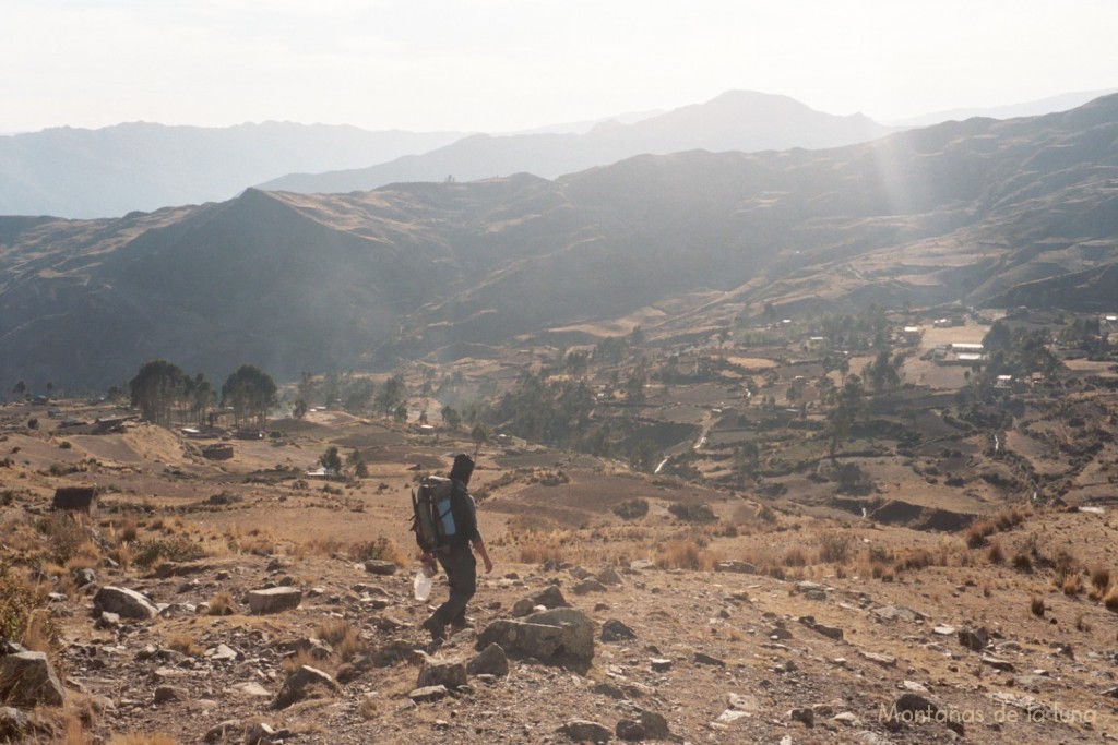
[[[1118,96],[844,147],[639,155],[122,219],[0,218],[0,381],[220,380],[781,314],[1118,298]],[[581,334],[581,337],[578,336]]]

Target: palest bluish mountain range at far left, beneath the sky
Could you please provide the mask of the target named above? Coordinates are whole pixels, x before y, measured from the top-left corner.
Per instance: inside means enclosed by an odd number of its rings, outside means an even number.
[[[0,214],[120,217],[230,199],[292,171],[379,163],[462,132],[367,132],[285,122],[208,128],[136,122],[0,137]]]

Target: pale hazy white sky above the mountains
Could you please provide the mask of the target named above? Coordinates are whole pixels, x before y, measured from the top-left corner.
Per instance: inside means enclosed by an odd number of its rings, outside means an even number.
[[[1118,87],[1115,0],[0,0],[0,132],[501,132],[731,89],[887,121]]]

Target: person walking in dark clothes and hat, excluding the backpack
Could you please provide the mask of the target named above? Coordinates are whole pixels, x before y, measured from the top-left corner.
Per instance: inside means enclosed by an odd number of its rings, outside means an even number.
[[[438,560],[451,585],[451,596],[423,622],[423,628],[430,632],[435,641],[446,639],[447,624],[455,631],[468,625],[466,603],[477,589],[477,561],[470,548],[471,544],[485,562],[485,573],[493,571],[493,560],[485,551],[485,542],[477,531],[474,498],[466,490],[473,472],[473,458],[464,452],[454,458],[454,466],[451,468],[451,515],[454,517],[454,533],[446,534],[444,545],[439,546],[434,557],[429,553],[423,556],[425,564],[433,564],[434,558]]]

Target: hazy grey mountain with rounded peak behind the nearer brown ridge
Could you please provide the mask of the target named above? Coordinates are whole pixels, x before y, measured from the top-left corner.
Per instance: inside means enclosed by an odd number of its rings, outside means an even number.
[[[824,114],[786,96],[731,92],[633,124],[601,123],[585,134],[479,134],[421,155],[405,155],[364,169],[286,175],[259,188],[324,194],[367,191],[389,183],[475,181],[513,173],[553,179],[641,154],[817,150],[868,142],[893,131],[860,114]]]

